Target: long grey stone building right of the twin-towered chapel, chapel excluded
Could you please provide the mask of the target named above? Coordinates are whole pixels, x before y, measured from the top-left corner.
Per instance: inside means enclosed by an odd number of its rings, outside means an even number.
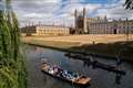
[[[103,21],[88,23],[90,34],[126,34],[133,33],[133,20]]]

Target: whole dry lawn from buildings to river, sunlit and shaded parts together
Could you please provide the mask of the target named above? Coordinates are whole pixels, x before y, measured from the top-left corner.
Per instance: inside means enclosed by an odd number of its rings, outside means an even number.
[[[81,36],[81,37],[80,37]],[[126,42],[122,41],[122,35],[115,36],[108,35],[102,38],[104,35],[99,35],[95,37],[96,43],[90,43],[88,37],[92,37],[92,35],[75,35],[75,36],[55,36],[55,37],[28,37],[22,41],[27,44],[44,46],[50,48],[55,48],[60,51],[66,52],[84,52],[84,53],[93,53],[98,55],[106,55],[113,57],[121,57],[125,61],[132,61],[133,57],[133,41]],[[98,36],[98,35],[96,35]],[[111,40],[113,38],[113,40]],[[69,41],[71,40],[71,41]],[[81,42],[80,42],[81,40]],[[110,42],[105,42],[105,40],[110,40]],[[117,40],[117,41],[116,41]],[[86,42],[85,42],[86,41]]]

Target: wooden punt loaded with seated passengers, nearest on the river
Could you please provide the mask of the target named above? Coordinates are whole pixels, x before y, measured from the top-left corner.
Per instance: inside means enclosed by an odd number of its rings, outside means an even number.
[[[61,68],[60,68],[61,69]],[[75,76],[75,73],[71,73],[69,74],[68,70],[61,69],[60,73],[54,70],[54,67],[51,67],[48,63],[42,62],[41,64],[41,70],[44,74],[48,74],[54,78],[59,78],[61,80],[71,82],[73,85],[78,85],[78,86],[89,86],[90,85],[90,80],[91,78],[86,77],[86,76]],[[68,74],[62,73],[62,72],[68,72]],[[74,75],[72,75],[74,74]]]

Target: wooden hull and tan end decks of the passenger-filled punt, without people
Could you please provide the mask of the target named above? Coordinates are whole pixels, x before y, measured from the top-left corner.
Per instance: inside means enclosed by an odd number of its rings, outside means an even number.
[[[47,64],[41,64],[41,72],[43,72],[44,74],[49,75],[49,76],[52,76],[54,78],[58,78],[58,79],[61,79],[61,80],[64,80],[66,82],[70,82],[72,85],[76,85],[76,86],[90,86],[90,80],[91,78],[86,77],[86,76],[80,76],[79,78],[76,78],[74,81],[73,80],[70,80],[70,79],[66,79],[65,77],[61,77],[59,75],[54,75],[54,74],[50,74],[48,72],[48,68],[49,68],[49,65]]]

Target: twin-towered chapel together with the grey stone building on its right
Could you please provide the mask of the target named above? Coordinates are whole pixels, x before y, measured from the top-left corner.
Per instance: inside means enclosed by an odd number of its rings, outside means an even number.
[[[133,33],[133,20],[113,20],[104,18],[89,18],[85,8],[82,12],[74,12],[76,34],[125,34]]]

